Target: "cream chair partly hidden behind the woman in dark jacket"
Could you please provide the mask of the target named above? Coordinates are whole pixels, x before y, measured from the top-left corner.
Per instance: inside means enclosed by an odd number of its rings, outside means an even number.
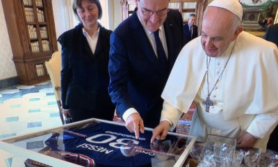
[[[60,71],[62,68],[61,52],[55,51],[52,54],[51,59],[49,61],[46,61],[44,64],[45,64],[45,67],[47,67],[47,72],[49,73],[52,88],[54,90],[54,94],[55,94],[58,108],[59,108],[60,119],[64,125],[65,124],[65,116],[63,116],[61,93],[60,93]]]

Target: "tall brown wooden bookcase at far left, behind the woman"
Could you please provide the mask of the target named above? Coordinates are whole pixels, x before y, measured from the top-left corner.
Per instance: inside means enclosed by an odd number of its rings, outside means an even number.
[[[49,80],[44,62],[58,50],[51,0],[1,0],[19,84]]]

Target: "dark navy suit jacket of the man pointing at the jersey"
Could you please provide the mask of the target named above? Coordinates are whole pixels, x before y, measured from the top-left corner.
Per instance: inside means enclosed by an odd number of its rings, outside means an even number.
[[[161,93],[183,47],[181,14],[170,10],[163,24],[169,70],[163,69],[136,10],[111,34],[109,94],[120,116],[134,107],[146,127],[158,125],[163,100]]]

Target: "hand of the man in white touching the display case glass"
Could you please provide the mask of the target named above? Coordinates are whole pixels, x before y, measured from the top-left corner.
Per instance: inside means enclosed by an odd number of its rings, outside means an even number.
[[[164,140],[167,136],[167,132],[170,129],[170,123],[167,120],[163,120],[152,132],[151,143],[154,143],[154,140]]]

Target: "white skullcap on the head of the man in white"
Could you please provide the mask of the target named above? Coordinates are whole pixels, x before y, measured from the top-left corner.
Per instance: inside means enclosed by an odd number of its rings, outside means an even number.
[[[209,6],[215,6],[229,10],[231,13],[234,13],[239,17],[240,22],[243,19],[243,6],[241,6],[238,0],[214,0],[208,4],[208,7]]]

